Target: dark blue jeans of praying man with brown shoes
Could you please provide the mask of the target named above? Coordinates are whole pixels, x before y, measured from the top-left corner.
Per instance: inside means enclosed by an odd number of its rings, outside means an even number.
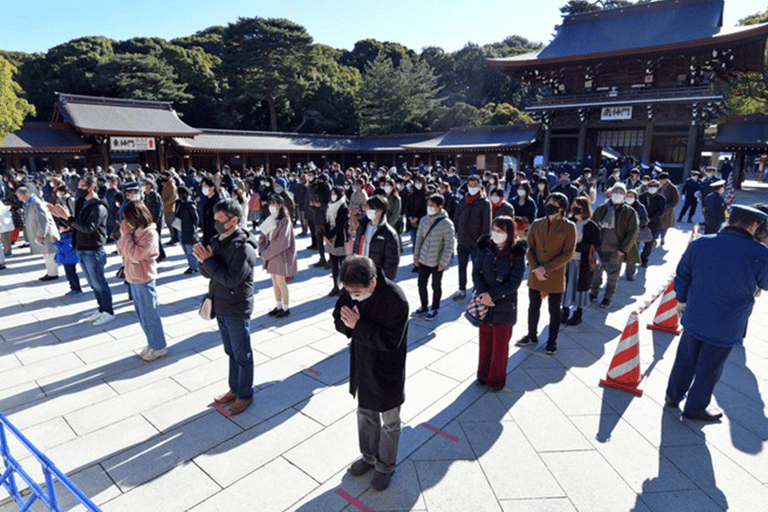
[[[229,390],[237,398],[253,396],[253,353],[251,320],[217,316],[224,352],[229,356]]]

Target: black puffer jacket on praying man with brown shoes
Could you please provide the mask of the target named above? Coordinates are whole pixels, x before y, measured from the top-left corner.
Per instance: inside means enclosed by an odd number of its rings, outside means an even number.
[[[216,316],[251,318],[257,247],[256,239],[239,228],[224,240],[211,240],[213,255],[200,264],[200,273],[210,279],[208,297]]]

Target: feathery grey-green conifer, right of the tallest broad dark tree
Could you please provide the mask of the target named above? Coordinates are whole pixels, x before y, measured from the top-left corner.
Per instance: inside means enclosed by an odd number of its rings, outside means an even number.
[[[417,131],[427,127],[428,114],[440,105],[438,79],[425,61],[392,59],[379,54],[365,67],[358,94],[364,134]]]

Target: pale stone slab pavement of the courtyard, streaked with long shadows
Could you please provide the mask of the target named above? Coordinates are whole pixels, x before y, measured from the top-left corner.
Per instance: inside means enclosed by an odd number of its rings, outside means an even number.
[[[288,319],[265,315],[273,298],[257,271],[258,389],[253,406],[228,419],[206,407],[226,388],[227,364],[215,322],[197,316],[206,281],[182,274],[179,247],[168,251],[158,279],[169,355],[152,364],[136,355],[145,339],[113,277],[117,256],[108,261],[117,319],[94,327],[84,322],[91,293],[62,299],[63,273],[40,283],[42,259],[15,249],[0,274],[0,411],[105,512],[358,510],[337,490],[379,512],[762,511],[767,297],[715,390],[721,424],[682,421],[662,408],[678,338],[644,328],[656,304],[640,318],[645,394],[598,386],[629,313],[674,271],[691,225],[679,227],[635,282],[622,278],[613,308],[591,308],[582,325],[563,329],[556,356],[541,345],[513,347],[499,393],[473,384],[477,329],[462,318],[465,304],[450,300],[452,266],[438,320],[411,324],[399,461],[385,492],[371,490],[369,477],[345,474],[358,456],[347,340],[333,329],[330,276],[309,268],[307,250],[289,285]],[[415,309],[409,262],[403,257],[398,280]],[[526,310],[523,284],[513,341],[524,333]],[[17,443],[12,453],[24,458]],[[34,462],[25,459],[39,475]],[[0,499],[0,512],[17,510],[4,491]]]

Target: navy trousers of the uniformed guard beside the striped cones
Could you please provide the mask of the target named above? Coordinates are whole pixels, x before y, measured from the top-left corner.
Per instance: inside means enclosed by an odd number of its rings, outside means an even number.
[[[683,412],[694,416],[705,412],[731,350],[733,346],[704,343],[684,329],[669,374],[667,401],[677,403],[687,392]]]

